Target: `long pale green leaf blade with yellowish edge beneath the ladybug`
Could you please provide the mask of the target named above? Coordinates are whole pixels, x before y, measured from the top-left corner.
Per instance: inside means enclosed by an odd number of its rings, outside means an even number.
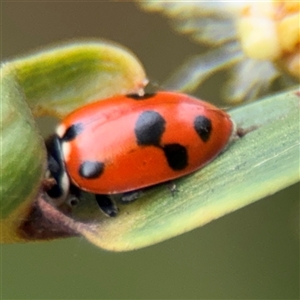
[[[271,96],[230,111],[237,126],[251,132],[234,141],[202,170],[119,204],[116,218],[103,217],[92,199],[72,212],[70,223],[101,248],[145,247],[253,203],[299,181],[299,92]]]

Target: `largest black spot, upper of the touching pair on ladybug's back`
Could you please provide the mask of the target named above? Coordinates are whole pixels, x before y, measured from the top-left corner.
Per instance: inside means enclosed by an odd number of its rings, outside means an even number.
[[[156,111],[144,111],[139,116],[134,128],[137,144],[140,146],[159,146],[165,131],[165,124],[164,118]]]

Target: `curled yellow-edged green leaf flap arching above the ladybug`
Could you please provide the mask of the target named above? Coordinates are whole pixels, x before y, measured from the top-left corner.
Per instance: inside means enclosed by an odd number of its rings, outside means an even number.
[[[47,47],[14,60],[11,67],[36,116],[63,118],[98,99],[142,93],[147,84],[137,57],[105,40]]]

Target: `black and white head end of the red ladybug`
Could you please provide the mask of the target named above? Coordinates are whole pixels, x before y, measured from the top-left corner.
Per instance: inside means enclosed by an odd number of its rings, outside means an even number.
[[[48,156],[47,177],[55,181],[46,193],[55,205],[60,205],[69,195],[70,180],[65,169],[59,137],[57,135],[51,136],[46,141],[46,148]]]

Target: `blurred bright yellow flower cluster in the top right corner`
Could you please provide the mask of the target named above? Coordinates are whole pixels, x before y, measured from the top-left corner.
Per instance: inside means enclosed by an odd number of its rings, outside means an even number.
[[[254,59],[272,60],[300,78],[300,2],[251,3],[241,11],[238,35],[243,51]]]

